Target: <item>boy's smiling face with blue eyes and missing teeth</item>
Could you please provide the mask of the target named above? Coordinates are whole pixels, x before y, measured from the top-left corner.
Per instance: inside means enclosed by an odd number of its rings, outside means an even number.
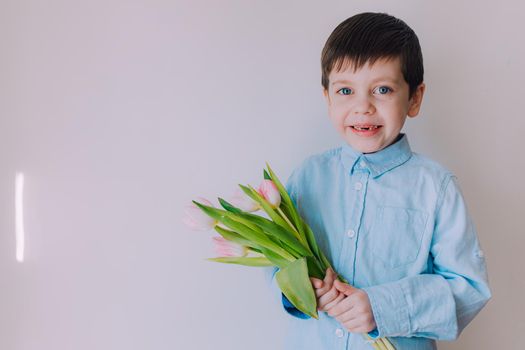
[[[355,72],[350,64],[332,70],[328,91],[323,91],[329,117],[345,141],[359,152],[373,153],[395,141],[407,116],[417,116],[425,84],[409,99],[399,58],[379,59]]]

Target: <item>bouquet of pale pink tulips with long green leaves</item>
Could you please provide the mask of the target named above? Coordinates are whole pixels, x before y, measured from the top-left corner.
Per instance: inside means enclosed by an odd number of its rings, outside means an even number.
[[[285,187],[267,164],[256,190],[239,185],[230,202],[218,198],[222,209],[206,199],[193,201],[184,222],[192,229],[215,229],[217,258],[209,260],[246,266],[277,266],[277,284],[288,300],[305,314],[318,318],[310,277],[323,279],[330,262],[301,218]],[[267,217],[253,214],[262,209]],[[346,281],[339,276],[339,279]],[[394,349],[387,338],[371,339],[374,349]]]

